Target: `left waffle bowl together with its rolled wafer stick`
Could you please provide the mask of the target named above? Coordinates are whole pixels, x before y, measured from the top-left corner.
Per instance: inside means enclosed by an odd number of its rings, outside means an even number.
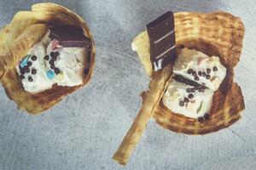
[[[83,84],[79,86],[61,87],[55,84],[44,92],[31,94],[22,88],[15,65],[44,36],[48,26],[76,26],[84,31],[84,35],[91,41],[90,59],[85,59],[87,62],[84,63],[89,73],[84,75]],[[26,110],[30,114],[45,111],[90,81],[95,54],[93,37],[78,14],[55,3],[34,4],[32,11],[18,12],[9,25],[0,31],[0,76],[5,93],[15,101],[20,110]]]

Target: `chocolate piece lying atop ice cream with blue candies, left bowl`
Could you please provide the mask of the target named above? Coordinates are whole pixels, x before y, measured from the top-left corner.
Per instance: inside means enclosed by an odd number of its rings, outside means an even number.
[[[90,39],[84,36],[84,31],[74,26],[50,27],[50,37],[56,38],[64,48],[90,48]]]

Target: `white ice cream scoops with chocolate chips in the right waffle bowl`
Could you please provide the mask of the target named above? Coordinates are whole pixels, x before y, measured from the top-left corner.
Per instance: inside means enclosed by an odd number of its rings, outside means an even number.
[[[209,57],[199,51],[183,48],[173,66],[173,73],[179,78],[168,84],[163,104],[184,116],[205,116],[211,109],[214,91],[218,90],[226,75],[224,65],[216,56]]]

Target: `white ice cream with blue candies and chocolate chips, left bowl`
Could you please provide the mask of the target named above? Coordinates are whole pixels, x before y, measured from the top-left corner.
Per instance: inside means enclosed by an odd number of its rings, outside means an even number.
[[[49,65],[49,60],[53,60],[52,53],[58,54],[54,59],[54,69]],[[16,65],[23,88],[35,94],[55,83],[69,87],[82,84],[85,53],[85,48],[62,48],[57,40],[50,40],[48,31]]]

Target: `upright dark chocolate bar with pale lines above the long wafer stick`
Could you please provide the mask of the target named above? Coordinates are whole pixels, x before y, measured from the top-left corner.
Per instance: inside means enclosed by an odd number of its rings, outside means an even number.
[[[172,12],[161,15],[147,25],[150,59],[154,71],[159,71],[176,59],[174,17]]]

